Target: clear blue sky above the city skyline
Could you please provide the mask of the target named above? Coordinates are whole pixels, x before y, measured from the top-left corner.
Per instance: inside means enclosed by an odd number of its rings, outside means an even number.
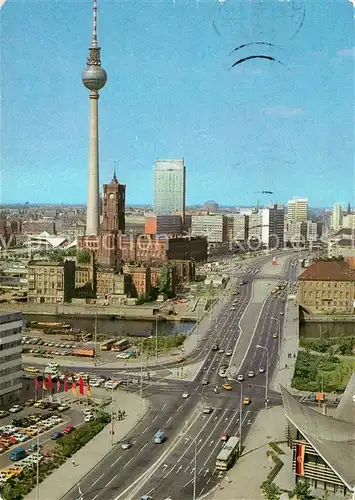
[[[154,160],[184,157],[188,204],[355,205],[351,3],[219,5],[99,0],[100,183],[117,162],[128,203],[150,203]],[[1,16],[1,202],[84,202],[91,2],[8,0]],[[229,55],[255,41],[277,47]],[[229,70],[254,54],[284,66]]]

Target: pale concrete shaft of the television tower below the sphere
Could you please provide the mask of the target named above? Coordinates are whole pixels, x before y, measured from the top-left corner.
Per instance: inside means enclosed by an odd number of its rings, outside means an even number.
[[[99,93],[90,91],[89,126],[89,177],[86,212],[86,234],[97,236],[99,233]]]

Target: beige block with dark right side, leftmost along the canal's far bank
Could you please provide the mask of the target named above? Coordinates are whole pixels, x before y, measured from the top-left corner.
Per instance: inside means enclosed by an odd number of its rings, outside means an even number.
[[[75,262],[32,260],[27,268],[28,302],[64,304],[75,296]]]

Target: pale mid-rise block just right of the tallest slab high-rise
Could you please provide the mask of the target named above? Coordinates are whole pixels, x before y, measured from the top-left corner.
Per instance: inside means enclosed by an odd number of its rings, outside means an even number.
[[[225,215],[193,215],[191,234],[205,236],[208,243],[226,243],[228,241],[227,217]]]

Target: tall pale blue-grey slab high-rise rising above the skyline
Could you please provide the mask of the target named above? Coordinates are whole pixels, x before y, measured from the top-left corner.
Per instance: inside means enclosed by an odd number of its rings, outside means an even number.
[[[153,212],[185,217],[186,167],[184,159],[156,160],[153,180]]]

